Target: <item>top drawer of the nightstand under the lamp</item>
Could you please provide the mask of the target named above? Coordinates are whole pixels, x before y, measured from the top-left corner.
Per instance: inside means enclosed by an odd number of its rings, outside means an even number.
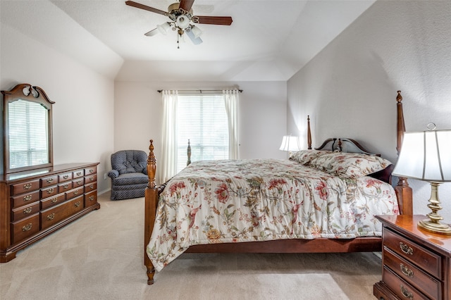
[[[442,279],[441,257],[384,227],[383,244],[422,270]]]

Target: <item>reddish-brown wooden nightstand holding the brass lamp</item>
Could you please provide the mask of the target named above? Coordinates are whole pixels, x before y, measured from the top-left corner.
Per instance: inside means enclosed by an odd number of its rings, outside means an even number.
[[[378,299],[451,299],[451,236],[417,227],[424,215],[378,215],[383,223]]]

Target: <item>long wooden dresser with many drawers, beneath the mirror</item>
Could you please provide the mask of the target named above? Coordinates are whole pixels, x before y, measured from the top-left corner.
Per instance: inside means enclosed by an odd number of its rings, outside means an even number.
[[[0,262],[94,209],[97,165],[70,163],[0,175]]]

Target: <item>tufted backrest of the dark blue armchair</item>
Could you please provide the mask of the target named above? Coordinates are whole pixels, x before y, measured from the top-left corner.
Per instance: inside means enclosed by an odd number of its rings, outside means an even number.
[[[121,150],[111,154],[111,167],[119,174],[146,173],[147,154],[141,150]]]

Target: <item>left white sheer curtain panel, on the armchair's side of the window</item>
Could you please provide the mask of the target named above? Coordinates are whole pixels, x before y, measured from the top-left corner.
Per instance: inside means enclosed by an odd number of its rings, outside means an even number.
[[[161,126],[161,182],[177,173],[177,99],[178,91],[161,92],[163,99],[163,124]]]

